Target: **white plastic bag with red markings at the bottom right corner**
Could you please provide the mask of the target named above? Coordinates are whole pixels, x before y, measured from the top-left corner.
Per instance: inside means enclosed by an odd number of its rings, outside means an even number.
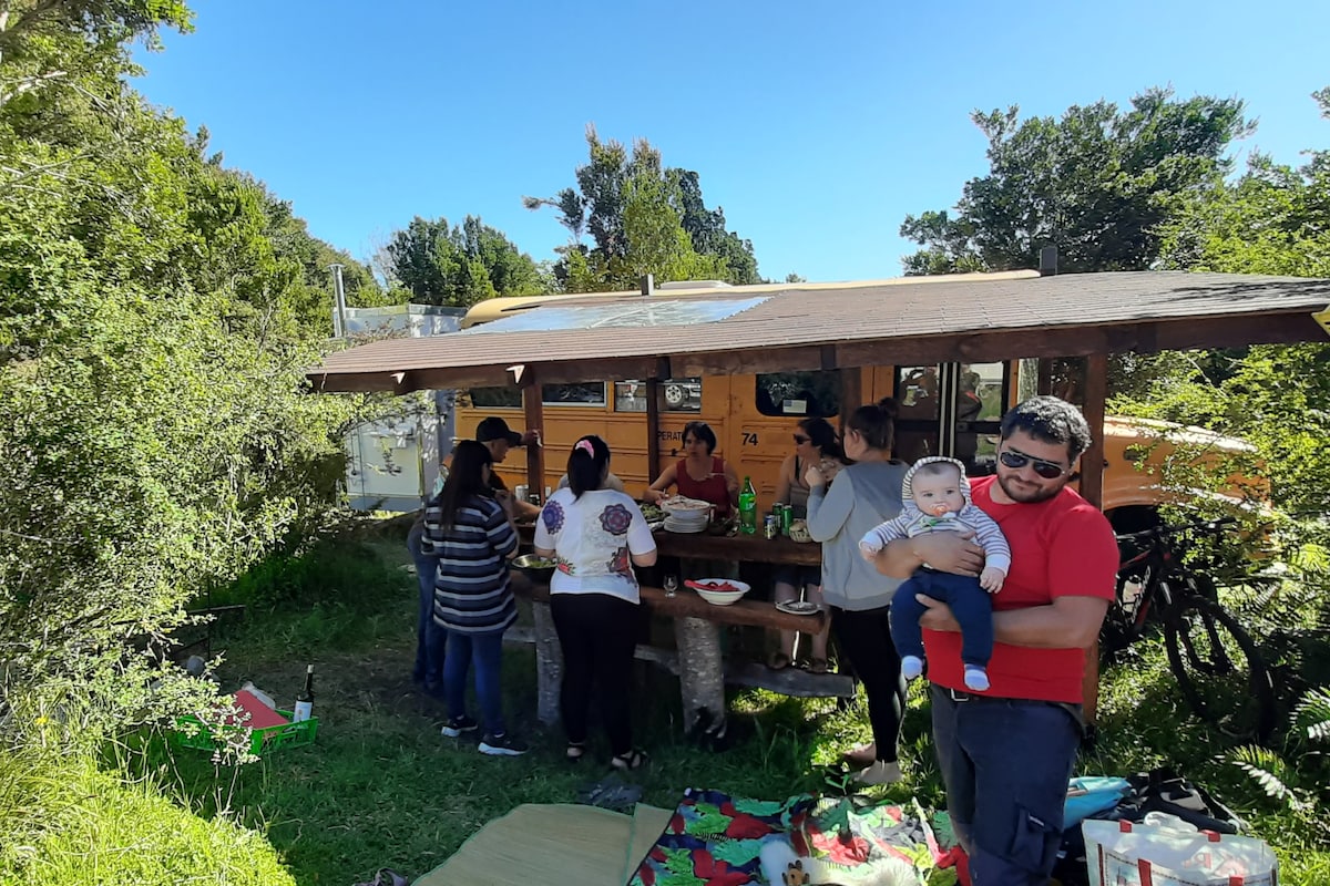
[[[1275,886],[1279,862],[1264,840],[1197,830],[1177,816],[1081,822],[1091,886]]]

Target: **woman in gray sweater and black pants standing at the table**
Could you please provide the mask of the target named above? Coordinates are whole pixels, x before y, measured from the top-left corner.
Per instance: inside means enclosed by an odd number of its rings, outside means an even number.
[[[817,466],[805,474],[810,489],[809,534],[822,542],[822,595],[831,606],[841,655],[868,696],[872,745],[850,758],[864,765],[857,778],[872,785],[900,780],[896,744],[906,684],[887,619],[900,580],[882,575],[864,561],[859,539],[902,509],[900,482],[908,465],[891,458],[896,412],[891,397],[855,409],[846,421],[843,441],[846,458],[854,464],[842,469],[830,487]]]

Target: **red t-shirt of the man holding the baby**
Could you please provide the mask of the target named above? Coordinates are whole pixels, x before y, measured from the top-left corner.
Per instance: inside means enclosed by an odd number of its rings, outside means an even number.
[[[1011,573],[994,595],[994,611],[1047,606],[1059,596],[1113,599],[1117,542],[1108,519],[1064,489],[1037,503],[999,505],[990,494],[995,477],[975,481],[971,497],[992,517],[1011,545]],[[928,679],[964,689],[960,634],[924,631]],[[994,644],[988,662],[992,688],[984,695],[1037,701],[1081,701],[1085,650]]]

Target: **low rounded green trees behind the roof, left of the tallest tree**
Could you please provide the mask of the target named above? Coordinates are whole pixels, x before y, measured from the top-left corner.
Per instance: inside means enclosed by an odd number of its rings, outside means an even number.
[[[416,217],[384,247],[391,276],[420,304],[468,307],[495,295],[533,295],[543,279],[529,255],[468,215],[462,224]]]

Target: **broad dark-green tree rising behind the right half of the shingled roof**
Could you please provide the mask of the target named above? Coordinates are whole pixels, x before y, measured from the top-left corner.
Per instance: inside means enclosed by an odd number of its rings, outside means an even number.
[[[907,274],[1031,267],[1056,246],[1064,271],[1128,271],[1160,255],[1161,227],[1229,171],[1225,150],[1250,126],[1234,98],[1186,101],[1152,89],[1128,110],[1099,101],[1060,120],[1019,109],[975,112],[987,175],[966,182],[955,213],[907,215],[900,235],[924,248]]]

